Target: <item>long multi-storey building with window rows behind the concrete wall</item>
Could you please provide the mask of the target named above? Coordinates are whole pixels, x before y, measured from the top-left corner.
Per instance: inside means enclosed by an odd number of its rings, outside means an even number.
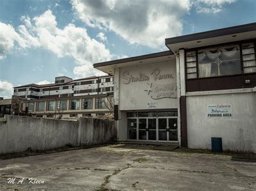
[[[14,95],[24,99],[23,111],[35,117],[77,119],[111,115],[113,77],[56,77],[54,84],[15,87]]]

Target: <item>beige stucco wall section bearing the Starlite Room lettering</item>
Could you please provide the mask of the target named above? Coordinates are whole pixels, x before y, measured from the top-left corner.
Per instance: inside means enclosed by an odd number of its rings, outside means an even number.
[[[122,67],[119,78],[120,110],[147,110],[148,102],[157,102],[157,109],[177,108],[175,60]]]

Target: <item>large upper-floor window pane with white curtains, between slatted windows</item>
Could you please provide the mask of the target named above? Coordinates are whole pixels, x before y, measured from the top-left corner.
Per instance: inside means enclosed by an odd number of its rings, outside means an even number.
[[[198,50],[199,78],[241,73],[239,45]]]

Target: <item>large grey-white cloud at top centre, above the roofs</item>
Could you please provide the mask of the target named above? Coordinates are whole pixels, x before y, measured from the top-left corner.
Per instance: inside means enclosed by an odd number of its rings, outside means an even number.
[[[111,30],[131,44],[154,48],[164,46],[165,38],[181,35],[181,17],[191,6],[189,0],[72,0],[71,3],[87,25]]]

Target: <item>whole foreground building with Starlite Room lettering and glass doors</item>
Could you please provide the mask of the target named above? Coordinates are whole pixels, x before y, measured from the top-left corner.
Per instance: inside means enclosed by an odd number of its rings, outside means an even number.
[[[171,29],[170,29],[171,30]],[[256,152],[256,23],[165,39],[170,51],[96,63],[114,76],[118,140]]]

